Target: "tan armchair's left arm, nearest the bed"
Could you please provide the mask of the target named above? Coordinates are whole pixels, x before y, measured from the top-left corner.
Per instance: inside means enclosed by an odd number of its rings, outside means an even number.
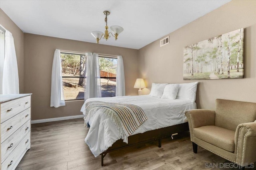
[[[215,111],[206,109],[192,109],[186,111],[188,123],[192,125],[191,128],[214,125],[215,124]]]

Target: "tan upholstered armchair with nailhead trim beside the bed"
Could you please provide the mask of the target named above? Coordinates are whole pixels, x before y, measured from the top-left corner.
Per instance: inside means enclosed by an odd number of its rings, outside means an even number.
[[[215,111],[188,110],[186,117],[194,153],[199,145],[242,169],[256,161],[256,103],[216,99]]]

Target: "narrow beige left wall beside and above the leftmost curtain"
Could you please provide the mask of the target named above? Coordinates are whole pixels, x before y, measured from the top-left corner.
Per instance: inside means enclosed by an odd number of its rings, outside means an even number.
[[[24,33],[0,8],[0,24],[12,33],[18,63],[20,93],[24,92]]]

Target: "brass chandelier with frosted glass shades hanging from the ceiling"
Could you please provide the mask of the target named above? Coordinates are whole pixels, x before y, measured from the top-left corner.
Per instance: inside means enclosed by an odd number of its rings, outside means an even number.
[[[92,31],[91,34],[92,36],[94,36],[94,38],[97,41],[97,44],[99,43],[100,39],[103,37],[103,39],[106,39],[106,41],[108,40],[108,38],[110,37],[110,34],[115,37],[115,39],[117,40],[118,35],[124,31],[124,29],[118,25],[113,25],[110,27],[111,31],[114,33],[114,35],[110,32],[108,32],[108,15],[110,14],[109,11],[104,11],[103,14],[106,16],[105,17],[105,22],[106,22],[106,26],[105,26],[105,34],[102,33],[101,31]]]

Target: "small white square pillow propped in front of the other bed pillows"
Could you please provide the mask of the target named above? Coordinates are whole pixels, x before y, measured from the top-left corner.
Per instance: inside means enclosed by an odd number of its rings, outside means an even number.
[[[176,99],[196,101],[196,89],[198,82],[180,84]]]

